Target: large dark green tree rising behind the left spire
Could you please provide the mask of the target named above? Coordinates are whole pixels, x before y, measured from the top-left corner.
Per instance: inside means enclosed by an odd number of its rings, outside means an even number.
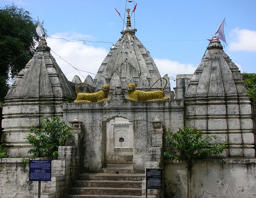
[[[31,14],[15,5],[0,8],[0,101],[14,79],[32,58],[39,41]]]

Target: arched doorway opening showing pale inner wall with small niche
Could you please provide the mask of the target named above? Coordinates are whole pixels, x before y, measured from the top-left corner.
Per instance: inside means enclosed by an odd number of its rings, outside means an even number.
[[[115,117],[106,122],[107,164],[133,164],[133,123]]]

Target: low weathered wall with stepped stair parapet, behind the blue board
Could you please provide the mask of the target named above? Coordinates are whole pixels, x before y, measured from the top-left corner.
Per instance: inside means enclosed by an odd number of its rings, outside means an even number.
[[[73,129],[74,146],[59,147],[58,160],[52,160],[51,181],[41,182],[41,198],[64,197],[80,173],[80,131]],[[74,143],[75,142],[75,143]],[[0,159],[0,198],[37,198],[38,182],[29,181],[29,163],[22,158]]]

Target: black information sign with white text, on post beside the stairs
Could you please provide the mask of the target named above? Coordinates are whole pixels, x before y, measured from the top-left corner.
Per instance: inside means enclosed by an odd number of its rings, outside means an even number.
[[[163,185],[162,168],[146,168],[146,198],[148,189],[161,189]]]

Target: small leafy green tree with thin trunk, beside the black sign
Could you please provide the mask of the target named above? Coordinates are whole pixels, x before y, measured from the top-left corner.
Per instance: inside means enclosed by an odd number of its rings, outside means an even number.
[[[179,128],[176,133],[169,130],[168,133],[169,136],[165,136],[165,140],[172,152],[164,152],[164,156],[175,161],[187,162],[187,197],[189,197],[192,162],[209,156],[220,155],[226,148],[226,143],[210,143],[217,138],[215,135],[204,138],[201,130],[191,126],[185,126],[184,129]]]

